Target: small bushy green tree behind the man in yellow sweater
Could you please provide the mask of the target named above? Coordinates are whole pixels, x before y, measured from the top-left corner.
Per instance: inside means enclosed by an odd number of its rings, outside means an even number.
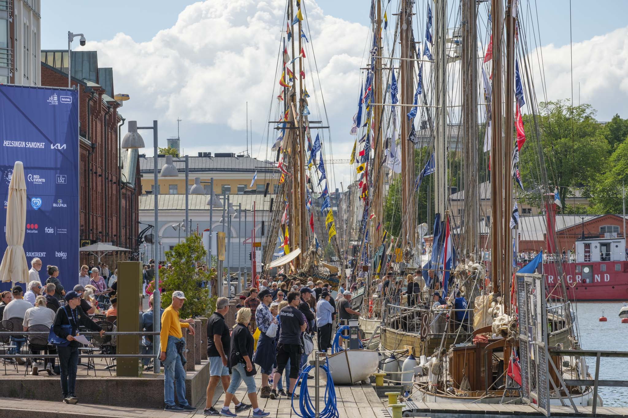
[[[206,255],[207,251],[203,248],[202,239],[197,233],[192,233],[185,241],[176,244],[175,248],[166,251],[166,263],[172,264],[173,268],[160,270],[160,278],[163,278],[162,308],[170,305],[173,291],[181,290],[185,293],[187,301],[179,311],[180,318],[210,313],[207,288],[202,288],[200,285],[203,281],[209,282],[215,278],[215,272],[198,271],[195,267],[205,263]]]

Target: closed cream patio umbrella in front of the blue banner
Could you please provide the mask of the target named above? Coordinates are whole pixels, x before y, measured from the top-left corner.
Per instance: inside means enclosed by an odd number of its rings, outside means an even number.
[[[26,181],[24,165],[16,161],[9,183],[9,199],[6,207],[6,244],[0,280],[3,282],[28,283],[28,266],[24,254],[24,233],[26,232]]]

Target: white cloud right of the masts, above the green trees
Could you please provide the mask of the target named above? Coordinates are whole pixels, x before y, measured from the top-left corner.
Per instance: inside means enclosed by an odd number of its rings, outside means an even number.
[[[589,103],[597,109],[598,120],[607,121],[615,113],[628,117],[625,97],[628,93],[628,28],[573,44],[573,100]],[[536,64],[536,51],[531,57]],[[544,73],[549,100],[571,97],[570,46],[543,47]],[[537,98],[544,100],[538,69],[535,81]]]

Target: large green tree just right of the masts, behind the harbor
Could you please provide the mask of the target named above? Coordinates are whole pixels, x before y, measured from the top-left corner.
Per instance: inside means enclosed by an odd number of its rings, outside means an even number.
[[[540,103],[539,110],[541,155],[549,186],[558,187],[561,201],[565,202],[570,187],[592,185],[609,157],[609,142],[590,105],[571,106],[568,100],[556,100]],[[538,139],[530,115],[526,115],[524,126],[528,140],[521,149],[519,170],[524,186],[536,188],[541,184],[541,169]]]

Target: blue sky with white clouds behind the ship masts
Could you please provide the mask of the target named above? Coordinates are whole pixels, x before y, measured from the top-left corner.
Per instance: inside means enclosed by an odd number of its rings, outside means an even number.
[[[265,1],[273,3],[274,6],[278,3],[283,4],[281,0]],[[195,4],[188,10],[189,12],[193,9],[197,14],[199,11],[217,14],[218,17],[214,16],[214,20],[212,16],[181,13],[186,6],[194,3],[185,0],[110,0],[105,3],[77,0],[43,1],[41,46],[42,49],[63,49],[67,44],[68,30],[84,33],[88,42],[92,42],[87,48],[99,52],[99,65],[113,66],[116,92],[131,94],[131,100],[121,109],[122,115],[131,119],[137,118],[140,124],[150,123],[153,118],[158,118],[161,146],[165,146],[166,137],[176,135],[176,118],[180,117],[183,119],[181,143],[186,151],[189,150],[190,155],[195,155],[199,150],[210,152],[244,150],[246,147],[244,103],[249,100],[249,118],[253,120],[254,130],[252,155],[257,156],[262,132],[267,127],[268,102],[274,97],[269,95],[268,86],[272,85],[274,80],[268,80],[268,76],[264,78],[256,73],[264,72],[260,68],[260,63],[269,67],[274,65],[276,50],[273,51],[273,48],[277,44],[278,36],[277,39],[271,39],[275,38],[275,32],[268,31],[268,28],[264,32],[264,28],[260,29],[259,26],[257,29],[249,30],[246,19],[255,22],[254,18],[227,11],[227,8],[235,4],[244,3],[243,0],[210,0],[208,6],[204,8]],[[344,77],[337,80],[338,76],[327,75],[327,78],[322,76],[322,83],[323,88],[327,87],[329,90],[325,93],[327,105],[328,107],[335,105],[332,113],[337,113],[334,115],[337,120],[330,121],[336,132],[333,139],[333,158],[346,159],[353,144],[353,138],[347,135],[347,131],[350,127],[350,118],[355,112],[353,103],[357,92],[354,90],[357,90],[356,86],[359,83],[357,68],[366,39],[365,32],[363,34],[360,29],[365,31],[364,26],[369,25],[370,1],[318,0],[317,3],[323,12],[318,16],[318,24],[322,26],[319,33],[322,40],[316,45],[317,58],[319,54],[323,55],[322,61],[325,61],[323,64],[327,64],[327,74],[335,71],[334,74],[342,73]],[[252,2],[253,6],[247,10],[255,13],[255,7],[259,4],[261,0]],[[569,53],[565,48],[568,48],[570,42],[569,1],[521,0],[520,4],[521,8],[528,8],[529,4],[530,7],[538,4],[541,43],[546,59],[546,83],[550,93],[557,96],[550,98],[568,97],[570,67]],[[207,22],[222,23],[220,19],[223,11],[228,16],[224,19],[224,31],[216,29],[215,26],[207,28]],[[571,11],[574,43],[589,41],[595,36],[609,34],[628,25],[625,20],[625,16],[628,15],[626,1],[573,0]],[[339,24],[333,21],[330,23],[333,19],[326,19],[328,16],[362,26],[354,25],[347,31],[349,26],[347,23]],[[313,17],[311,16],[310,20]],[[256,18],[259,19],[259,16]],[[261,19],[261,24],[279,26],[281,24],[279,19],[271,16],[266,21]],[[178,21],[181,23],[177,25]],[[189,27],[186,26],[187,23]],[[242,33],[242,27],[247,28],[249,33]],[[158,34],[160,31],[161,34]],[[278,30],[276,32],[278,33]],[[127,37],[119,35],[120,33]],[[255,38],[258,33],[267,36],[266,44],[262,42],[264,39]],[[617,94],[616,90],[619,86],[622,91],[628,91],[628,76],[624,78],[624,75],[628,75],[625,38],[623,32],[615,33],[614,38],[609,38],[610,41],[604,41],[604,38],[601,43],[594,41],[588,43],[580,52],[574,50],[575,98],[578,81],[582,81],[583,102],[592,103],[593,107],[600,109],[598,115],[600,120],[609,120],[615,112],[628,117],[628,104],[622,100],[626,95]],[[256,44],[257,41],[260,41],[259,45]],[[213,49],[207,48],[207,44],[212,44]],[[268,50],[268,55],[264,58],[266,61],[255,56],[256,53],[259,55],[264,51],[268,44],[271,47],[266,48]],[[78,42],[75,42],[74,47],[77,46]],[[252,46],[254,51],[244,53],[247,46]],[[234,65],[225,69],[224,66],[220,68],[220,63],[210,62],[224,60],[216,58],[217,56],[235,57],[232,61]],[[617,61],[620,65],[617,65]],[[268,65],[269,62],[272,62],[272,65]],[[251,68],[246,68],[247,65]],[[320,69],[321,62],[318,65]],[[607,68],[607,75],[604,75],[603,71]],[[163,71],[162,75],[155,75],[160,71]],[[238,86],[241,84],[237,82],[242,80],[234,80],[233,75],[236,73],[231,71],[245,73],[251,79],[257,76],[256,84],[249,90],[239,90]],[[149,81],[146,81],[148,79]],[[143,85],[144,81],[146,83]],[[234,85],[232,90],[223,88],[230,84]],[[557,87],[551,91],[553,85]],[[195,91],[197,88],[199,91]],[[333,97],[333,93],[336,92],[338,92],[336,97]],[[352,97],[351,100],[347,99],[349,96]],[[214,100],[220,103],[214,108],[191,104],[200,103],[200,100]],[[234,103],[237,103],[237,106]],[[232,108],[230,113],[220,112],[226,107]],[[254,108],[256,110],[252,110]],[[208,115],[205,120],[202,117],[203,113]],[[152,154],[151,150],[146,152]],[[261,154],[259,157],[264,158],[265,155]]]

